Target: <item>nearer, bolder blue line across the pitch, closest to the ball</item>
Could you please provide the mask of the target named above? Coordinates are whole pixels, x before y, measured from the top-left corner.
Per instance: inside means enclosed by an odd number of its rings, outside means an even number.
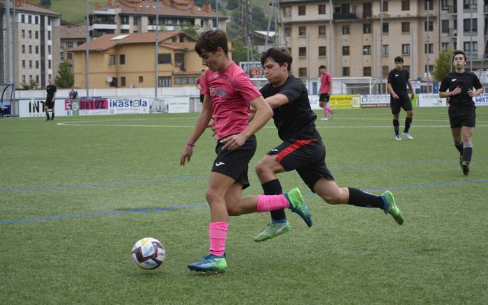
[[[445,185],[469,185],[473,183],[486,183],[488,179],[480,179],[480,180],[464,180],[464,181],[454,181],[454,182],[436,182],[436,183],[427,183],[425,185],[399,185],[394,187],[379,187],[376,189],[365,189],[365,191],[385,191],[386,189],[422,189],[424,187],[442,187]],[[317,196],[317,194],[308,193],[303,194],[305,197],[312,197]],[[109,211],[109,212],[95,212],[95,213],[86,213],[86,214],[66,214],[66,215],[57,215],[57,216],[45,216],[45,217],[33,217],[33,218],[23,218],[23,219],[3,219],[0,220],[0,225],[2,224],[20,224],[24,222],[35,222],[35,221],[47,221],[47,220],[55,220],[55,219],[70,219],[70,218],[80,218],[80,217],[96,217],[96,216],[112,216],[112,215],[119,215],[125,213],[148,213],[160,210],[179,210],[184,208],[201,208],[204,206],[208,206],[207,203],[190,203],[190,204],[181,204],[181,205],[173,205],[168,207],[155,207],[155,208],[146,208],[146,209],[127,209],[123,211]]]

